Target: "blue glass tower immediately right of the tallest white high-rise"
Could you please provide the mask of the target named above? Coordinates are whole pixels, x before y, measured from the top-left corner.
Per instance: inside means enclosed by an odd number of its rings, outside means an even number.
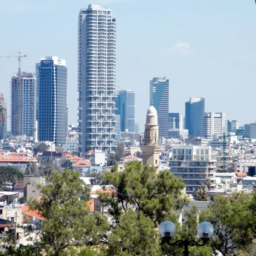
[[[135,91],[119,90],[116,98],[116,114],[120,115],[120,130],[135,132]]]

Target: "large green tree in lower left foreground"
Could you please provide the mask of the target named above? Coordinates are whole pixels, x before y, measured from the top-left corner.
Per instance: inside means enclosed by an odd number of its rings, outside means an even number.
[[[105,219],[86,210],[90,187],[79,177],[79,172],[70,170],[53,172],[47,186],[38,185],[41,201],[33,200],[32,208],[46,219],[36,246],[47,255],[64,255],[67,247],[98,244],[101,234],[108,232]]]

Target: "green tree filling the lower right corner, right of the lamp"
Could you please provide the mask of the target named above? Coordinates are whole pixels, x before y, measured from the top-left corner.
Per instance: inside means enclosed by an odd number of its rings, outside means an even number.
[[[233,197],[217,195],[201,215],[201,221],[212,223],[215,232],[211,245],[224,256],[243,250],[252,241],[251,221],[254,219],[250,207],[250,195],[244,192]]]

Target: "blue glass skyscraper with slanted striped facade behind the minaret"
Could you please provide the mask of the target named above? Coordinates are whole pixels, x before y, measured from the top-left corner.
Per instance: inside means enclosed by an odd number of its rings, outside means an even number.
[[[149,102],[157,110],[159,136],[168,138],[169,79],[154,77],[150,80]]]

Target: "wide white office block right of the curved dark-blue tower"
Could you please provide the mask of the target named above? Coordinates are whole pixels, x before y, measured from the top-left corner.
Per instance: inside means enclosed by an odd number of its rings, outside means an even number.
[[[202,121],[202,137],[206,139],[219,139],[227,134],[227,119],[225,113],[204,113]]]

